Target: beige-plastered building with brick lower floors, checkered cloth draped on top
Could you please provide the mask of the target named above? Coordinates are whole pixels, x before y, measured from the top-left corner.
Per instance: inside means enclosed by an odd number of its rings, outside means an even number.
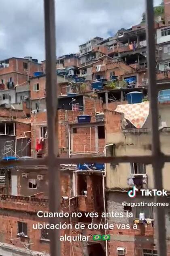
[[[147,108],[148,111],[143,112],[143,117],[139,114],[144,105],[145,107],[149,106],[149,102],[139,103],[139,105],[126,104],[125,102],[121,105],[122,103],[109,103],[108,111],[105,111],[105,120],[108,120],[106,121],[106,156],[151,155],[151,118],[149,108]],[[139,111],[136,108],[137,105],[141,108]],[[130,110],[131,108],[133,108],[133,113]],[[161,150],[166,154],[169,154],[168,144],[170,140],[168,132],[170,125],[169,108],[169,103],[159,103]],[[131,115],[133,115],[133,117]],[[143,121],[139,128],[139,126],[136,126],[136,120],[140,118]],[[169,193],[168,170],[169,164],[167,163],[163,168],[162,175],[163,187]],[[116,228],[110,231],[111,239],[108,247],[113,248],[112,255],[117,255],[118,247],[121,247],[125,255],[128,256],[157,255],[155,247],[157,243],[155,234],[155,208],[153,206],[131,207],[122,205],[122,202],[153,202],[153,196],[142,197],[140,192],[137,193],[134,199],[131,199],[127,195],[127,192],[132,189],[133,186],[136,186],[138,189],[154,189],[153,179],[154,174],[151,165],[140,163],[106,164],[107,212],[116,211],[123,213],[123,217],[116,219],[108,218],[109,223],[121,226],[121,229]],[[160,200],[160,202],[161,201],[162,200]],[[164,202],[169,202],[169,197],[166,197]],[[170,208],[166,207],[168,250],[170,249],[168,241],[170,225],[168,220],[169,212]],[[132,213],[132,216],[128,217],[128,213]],[[142,220],[140,219],[141,215],[144,216]],[[134,223],[137,225],[136,230],[133,229]],[[123,224],[129,225],[129,228],[124,229]]]

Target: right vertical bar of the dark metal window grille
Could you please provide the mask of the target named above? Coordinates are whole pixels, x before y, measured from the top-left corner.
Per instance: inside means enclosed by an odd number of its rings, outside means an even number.
[[[159,124],[158,124],[158,107],[157,107],[157,89],[156,89],[156,72],[155,72],[155,30],[154,30],[154,12],[153,0],[146,0],[147,7],[147,56],[148,56],[148,73],[149,73],[149,100],[152,120],[152,155],[153,155],[153,173],[154,188],[162,190],[162,167]],[[160,202],[162,197],[155,197],[156,202]],[[164,207],[156,207],[156,225],[158,255],[166,256],[166,227]]]

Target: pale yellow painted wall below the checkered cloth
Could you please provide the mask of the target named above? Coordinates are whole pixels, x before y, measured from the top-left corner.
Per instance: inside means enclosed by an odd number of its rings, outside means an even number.
[[[151,155],[151,133],[112,133],[107,134],[107,144],[114,143],[116,156],[144,156]],[[170,132],[160,132],[161,150],[170,154]],[[164,189],[170,191],[170,163],[166,163],[163,170]],[[148,188],[154,189],[153,170],[151,165],[146,165]],[[108,189],[129,189],[127,178],[130,176],[130,163],[120,163],[112,166],[106,165],[106,187]]]

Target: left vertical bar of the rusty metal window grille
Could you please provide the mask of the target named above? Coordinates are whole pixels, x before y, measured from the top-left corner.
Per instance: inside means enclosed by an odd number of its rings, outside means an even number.
[[[49,212],[60,212],[60,173],[55,158],[58,154],[57,76],[55,52],[55,0],[44,0],[45,8],[45,52],[46,52],[46,104],[48,126],[48,174]],[[57,218],[49,218],[50,224],[57,224]],[[51,256],[60,256],[58,230],[50,231]]]

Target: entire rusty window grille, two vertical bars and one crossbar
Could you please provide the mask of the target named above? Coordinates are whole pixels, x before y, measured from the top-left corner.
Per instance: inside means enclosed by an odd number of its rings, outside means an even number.
[[[48,126],[48,156],[41,159],[30,159],[26,161],[13,161],[13,166],[47,165],[49,171],[49,211],[60,211],[60,175],[59,165],[69,163],[91,163],[94,158],[59,158],[58,157],[58,114],[57,114],[57,88],[55,71],[55,0],[44,0],[45,10],[45,51],[46,51],[46,103],[47,103],[47,126]],[[152,155],[151,156],[117,156],[96,157],[96,163],[144,163],[152,164],[154,171],[154,187],[162,189],[162,168],[165,162],[170,162],[170,156],[161,152],[158,131],[158,108],[157,87],[155,73],[155,36],[154,36],[154,13],[153,0],[146,0],[147,16],[147,54],[149,73],[149,95],[152,116]],[[0,167],[8,163],[0,161]],[[155,196],[155,202],[160,202]],[[163,199],[161,199],[163,200]],[[166,226],[164,207],[156,208],[156,231],[157,231],[157,253],[166,256]],[[56,218],[49,218],[50,224],[57,224]],[[49,230],[51,256],[60,256],[60,240],[58,230]],[[155,253],[156,251],[154,251]],[[151,255],[154,255],[152,252]],[[147,252],[145,253],[146,255]],[[157,254],[155,254],[157,255]]]

